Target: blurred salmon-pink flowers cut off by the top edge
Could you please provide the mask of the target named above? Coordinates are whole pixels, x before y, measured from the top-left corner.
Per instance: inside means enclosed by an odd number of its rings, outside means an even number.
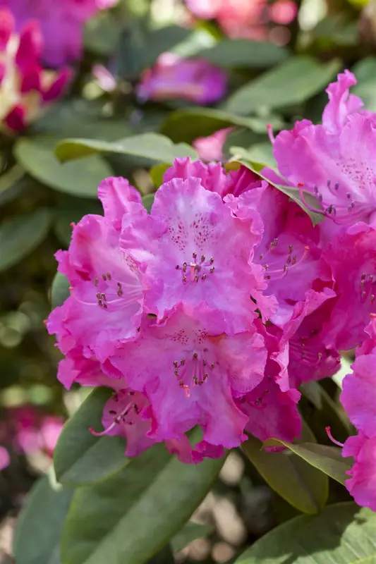
[[[288,25],[298,11],[293,0],[186,0],[186,6],[198,18],[217,19],[229,37],[256,40],[267,39],[268,23]]]

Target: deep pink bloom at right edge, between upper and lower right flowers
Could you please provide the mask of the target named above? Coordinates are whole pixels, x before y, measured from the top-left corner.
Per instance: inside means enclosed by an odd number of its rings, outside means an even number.
[[[339,233],[323,250],[322,263],[338,295],[324,328],[325,340],[336,349],[349,350],[362,343],[370,313],[376,312],[375,229],[359,223],[352,233]]]

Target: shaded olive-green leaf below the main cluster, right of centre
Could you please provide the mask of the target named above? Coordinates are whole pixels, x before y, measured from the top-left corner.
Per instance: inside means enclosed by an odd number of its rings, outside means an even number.
[[[303,513],[319,513],[325,506],[329,485],[320,470],[289,450],[265,452],[253,436],[242,448],[269,486],[293,507]]]

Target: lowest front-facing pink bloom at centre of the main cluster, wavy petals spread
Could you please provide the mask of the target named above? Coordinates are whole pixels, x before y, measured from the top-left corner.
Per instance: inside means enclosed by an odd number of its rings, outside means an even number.
[[[195,425],[214,446],[231,448],[245,438],[247,417],[234,397],[260,383],[267,352],[255,328],[229,337],[222,327],[221,316],[203,305],[178,307],[164,324],[145,319],[138,341],[112,358],[150,401],[152,439],[180,439]]]

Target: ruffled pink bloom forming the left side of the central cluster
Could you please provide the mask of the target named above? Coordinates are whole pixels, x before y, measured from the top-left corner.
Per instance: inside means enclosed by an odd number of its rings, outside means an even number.
[[[98,192],[105,217],[84,216],[73,228],[69,250],[56,253],[71,296],[51,312],[47,328],[64,354],[78,347],[88,359],[105,362],[138,335],[144,288],[135,263],[119,247],[117,229],[122,213],[142,205],[125,180],[104,180]]]

